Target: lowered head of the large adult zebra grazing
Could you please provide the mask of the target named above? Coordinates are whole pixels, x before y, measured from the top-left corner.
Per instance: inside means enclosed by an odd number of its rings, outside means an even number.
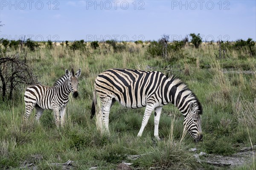
[[[201,104],[191,102],[189,104],[189,111],[184,118],[183,125],[190,136],[195,139],[195,142],[203,141],[203,134],[201,129]]]

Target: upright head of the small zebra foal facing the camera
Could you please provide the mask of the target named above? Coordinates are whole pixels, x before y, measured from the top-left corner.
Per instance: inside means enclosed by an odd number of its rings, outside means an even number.
[[[79,68],[79,70],[76,71],[76,74],[73,68],[71,69],[71,72],[68,71],[67,69],[65,72],[66,72],[66,76],[69,77],[70,90],[73,94],[73,97],[76,98],[78,96],[78,92],[77,92],[78,84],[79,84],[78,77],[81,75],[81,68]]]

